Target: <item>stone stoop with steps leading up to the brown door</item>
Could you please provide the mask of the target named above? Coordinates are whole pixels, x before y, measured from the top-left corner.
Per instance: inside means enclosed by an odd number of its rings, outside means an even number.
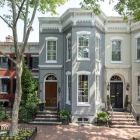
[[[61,125],[60,119],[57,114],[57,109],[48,109],[38,111],[36,117],[30,124],[33,125]]]

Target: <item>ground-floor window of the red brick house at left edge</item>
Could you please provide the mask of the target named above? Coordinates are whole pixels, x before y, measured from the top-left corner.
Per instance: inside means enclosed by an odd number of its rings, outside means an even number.
[[[1,79],[1,92],[10,93],[10,79]]]

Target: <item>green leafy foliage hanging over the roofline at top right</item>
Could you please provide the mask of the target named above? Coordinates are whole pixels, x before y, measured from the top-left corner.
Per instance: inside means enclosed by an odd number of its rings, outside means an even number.
[[[105,0],[83,0],[80,5],[86,10],[93,10],[95,14],[100,14],[99,2]],[[111,4],[114,0],[108,0]],[[124,20],[133,19],[134,22],[140,21],[140,0],[118,0],[114,6],[116,12],[124,17]]]

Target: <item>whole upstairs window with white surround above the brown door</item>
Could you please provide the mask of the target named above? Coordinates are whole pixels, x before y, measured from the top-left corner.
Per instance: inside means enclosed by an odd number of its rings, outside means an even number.
[[[46,38],[46,63],[57,62],[57,38],[47,37]]]

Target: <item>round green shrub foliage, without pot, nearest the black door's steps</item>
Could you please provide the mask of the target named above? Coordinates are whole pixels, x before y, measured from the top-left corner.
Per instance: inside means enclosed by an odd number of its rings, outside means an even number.
[[[106,122],[106,121],[109,120],[109,116],[107,115],[106,112],[100,111],[100,112],[97,113],[97,120]]]

